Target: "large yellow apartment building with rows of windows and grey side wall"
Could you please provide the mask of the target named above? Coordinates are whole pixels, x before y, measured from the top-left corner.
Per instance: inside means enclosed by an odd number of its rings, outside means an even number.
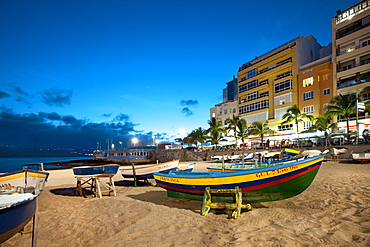
[[[238,72],[239,115],[248,124],[269,120],[271,129],[294,133],[293,124],[281,126],[281,117],[298,105],[299,68],[317,60],[320,48],[313,36],[298,36],[243,64]]]

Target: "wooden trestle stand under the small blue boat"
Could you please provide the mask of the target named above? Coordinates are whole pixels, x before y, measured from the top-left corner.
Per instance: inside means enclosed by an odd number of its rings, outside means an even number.
[[[98,174],[98,175],[87,175],[87,176],[76,176],[77,186],[76,194],[83,196],[82,189],[84,185],[90,187],[91,192],[94,196],[102,198],[102,192],[108,192],[110,196],[113,193],[116,196],[116,188],[114,187],[114,177],[115,174]],[[107,179],[107,180],[104,180]],[[100,185],[102,185],[105,190],[102,191]]]

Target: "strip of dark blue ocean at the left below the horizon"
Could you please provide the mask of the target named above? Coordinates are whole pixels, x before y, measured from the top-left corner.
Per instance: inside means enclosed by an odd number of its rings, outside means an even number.
[[[27,167],[32,170],[39,169],[39,163],[54,163],[73,160],[88,160],[92,157],[0,157],[0,173],[14,172]],[[45,170],[51,170],[60,166],[44,165]]]

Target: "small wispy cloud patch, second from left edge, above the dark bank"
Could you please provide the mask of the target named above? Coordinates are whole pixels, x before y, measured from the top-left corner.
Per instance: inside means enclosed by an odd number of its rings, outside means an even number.
[[[42,102],[48,106],[64,106],[71,103],[73,90],[53,88],[41,92]]]

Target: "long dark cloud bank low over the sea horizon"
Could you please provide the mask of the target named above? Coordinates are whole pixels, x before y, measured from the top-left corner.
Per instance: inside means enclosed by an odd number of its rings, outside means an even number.
[[[121,114],[122,117],[125,114]],[[127,115],[126,115],[127,116]],[[0,144],[49,148],[95,148],[97,142],[111,138],[123,143],[131,140],[136,132],[129,118],[124,123],[77,119],[58,113],[17,114],[0,107]]]

